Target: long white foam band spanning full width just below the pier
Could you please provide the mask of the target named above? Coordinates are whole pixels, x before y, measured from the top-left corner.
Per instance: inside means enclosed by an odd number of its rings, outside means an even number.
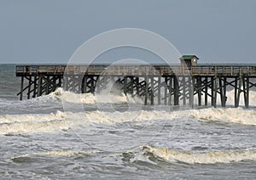
[[[204,110],[140,110],[134,118],[134,112],[104,112],[100,110],[80,113],[61,112],[55,114],[1,115],[0,134],[56,132],[69,128],[78,128],[100,123],[113,125],[125,121],[172,121],[190,115],[201,121],[227,121],[245,125],[256,125],[256,111],[241,108],[204,109]]]

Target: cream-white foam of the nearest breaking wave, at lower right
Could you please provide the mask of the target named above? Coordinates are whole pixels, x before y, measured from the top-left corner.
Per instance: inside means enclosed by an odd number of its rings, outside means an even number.
[[[256,160],[256,149],[209,153],[179,152],[172,149],[160,149],[153,146],[143,146],[142,149],[166,161],[181,161],[189,164],[215,164],[237,162],[241,160]]]

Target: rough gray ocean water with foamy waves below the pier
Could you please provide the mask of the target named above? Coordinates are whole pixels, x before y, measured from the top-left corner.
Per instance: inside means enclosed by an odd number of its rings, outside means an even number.
[[[61,88],[19,101],[15,65],[0,82],[1,178],[256,178],[255,91],[250,109],[230,91],[226,108],[190,110]]]

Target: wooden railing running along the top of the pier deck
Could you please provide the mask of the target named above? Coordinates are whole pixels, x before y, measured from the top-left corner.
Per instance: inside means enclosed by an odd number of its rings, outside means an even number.
[[[240,65],[17,65],[16,76],[44,75],[114,75],[114,76],[256,76],[256,66]]]

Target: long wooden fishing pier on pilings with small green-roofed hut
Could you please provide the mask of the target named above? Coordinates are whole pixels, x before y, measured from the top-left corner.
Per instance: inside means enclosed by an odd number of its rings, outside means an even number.
[[[181,65],[17,65],[20,100],[36,98],[62,87],[73,93],[101,92],[108,84],[123,93],[141,96],[145,105],[226,106],[234,90],[234,106],[243,98],[249,107],[256,89],[256,65],[197,65],[183,56]],[[217,99],[219,99],[219,104]]]

